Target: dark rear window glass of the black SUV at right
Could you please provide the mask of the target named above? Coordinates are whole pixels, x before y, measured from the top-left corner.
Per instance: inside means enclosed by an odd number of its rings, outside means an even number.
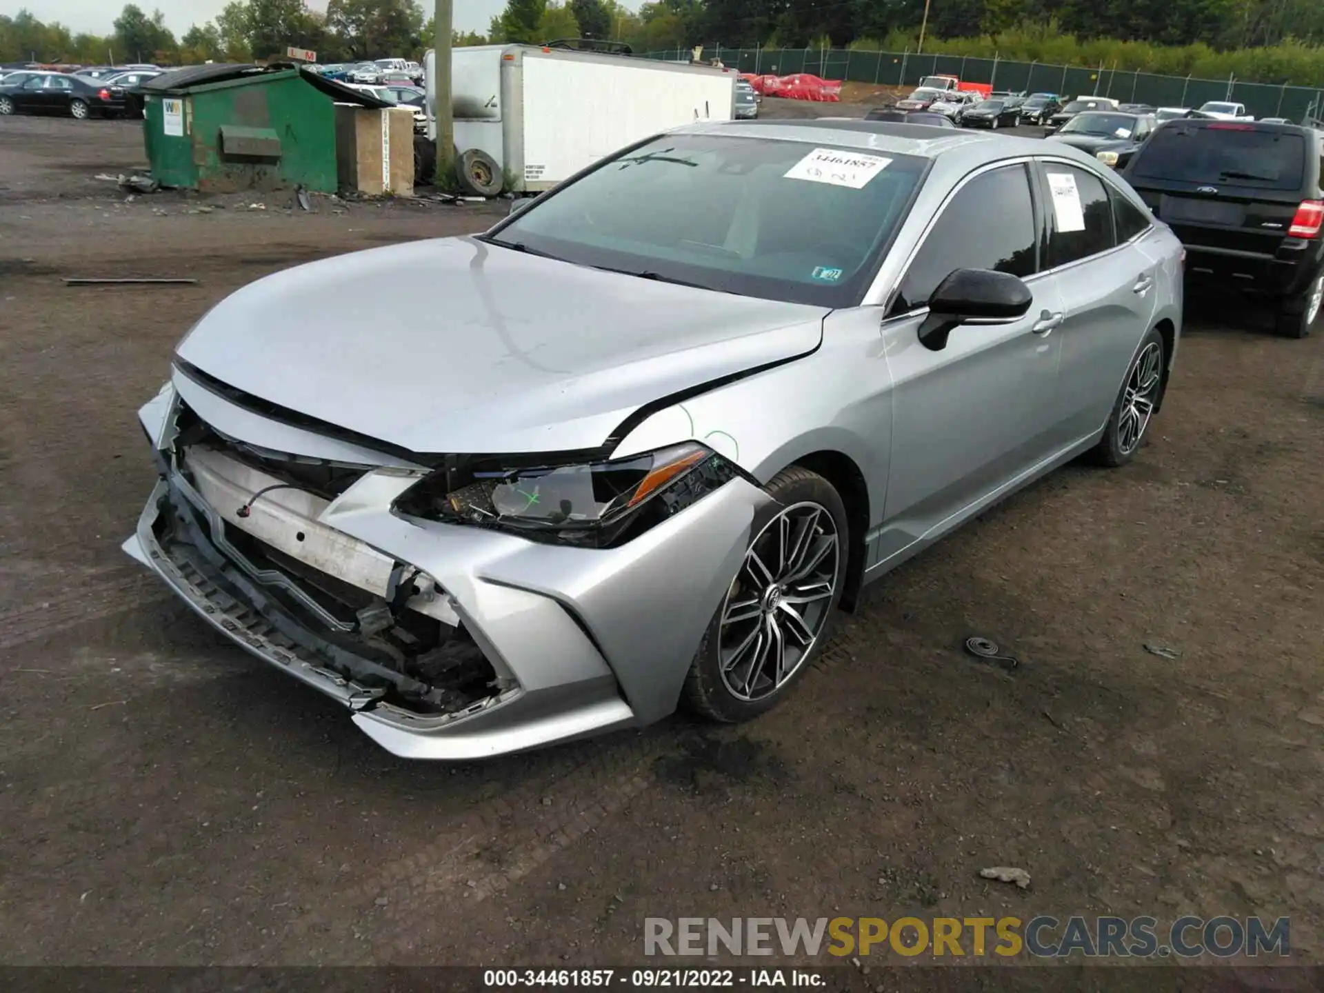
[[[1174,120],[1155,132],[1131,171],[1137,179],[1300,189],[1305,179],[1305,139],[1291,131],[1256,131],[1247,124]]]

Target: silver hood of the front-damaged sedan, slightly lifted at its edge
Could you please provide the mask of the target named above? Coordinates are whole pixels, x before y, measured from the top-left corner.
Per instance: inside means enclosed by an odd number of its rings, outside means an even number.
[[[653,401],[814,351],[825,307],[416,241],[269,275],[177,354],[279,406],[417,453],[598,448]]]

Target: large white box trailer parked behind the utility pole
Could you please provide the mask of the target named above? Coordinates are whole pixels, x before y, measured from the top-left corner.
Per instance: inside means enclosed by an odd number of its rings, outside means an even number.
[[[483,192],[536,193],[598,159],[694,120],[731,120],[732,69],[536,45],[451,49],[455,155]],[[436,73],[426,58],[428,136]]]

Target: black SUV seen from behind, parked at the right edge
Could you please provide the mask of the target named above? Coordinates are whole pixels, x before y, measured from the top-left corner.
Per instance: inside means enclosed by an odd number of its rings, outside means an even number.
[[[1186,246],[1186,275],[1270,298],[1305,338],[1324,301],[1321,135],[1262,120],[1161,124],[1123,171]]]

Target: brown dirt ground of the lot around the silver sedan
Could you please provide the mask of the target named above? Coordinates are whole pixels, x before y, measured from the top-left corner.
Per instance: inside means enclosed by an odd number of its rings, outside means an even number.
[[[1324,334],[1196,301],[1135,465],[870,588],[757,723],[408,764],[120,553],[134,412],[242,283],[496,208],[123,203],[139,148],[0,120],[0,961],[638,964],[646,916],[837,914],[1290,915],[1324,959]],[[109,274],[200,282],[60,281]]]

